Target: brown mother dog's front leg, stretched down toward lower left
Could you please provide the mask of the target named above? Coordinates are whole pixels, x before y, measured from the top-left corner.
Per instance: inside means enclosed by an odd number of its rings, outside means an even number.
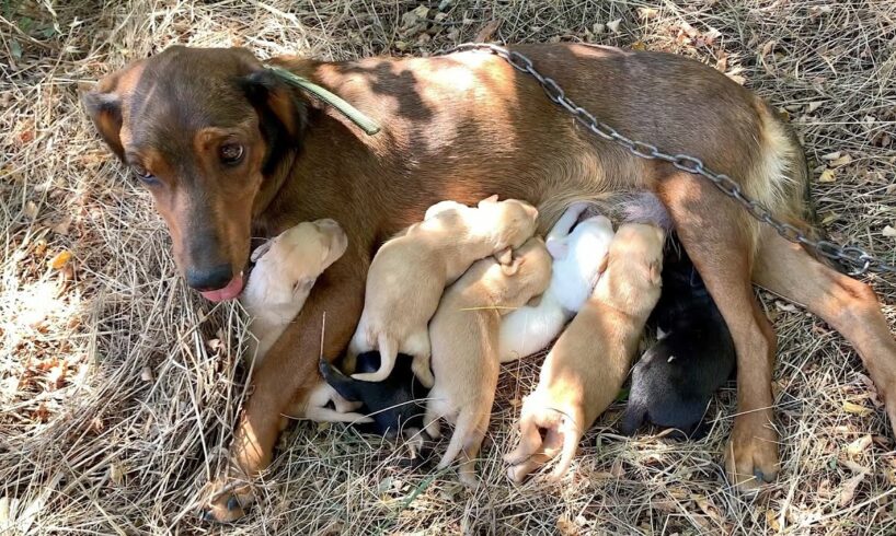
[[[346,253],[318,280],[305,308],[271,347],[233,431],[231,469],[212,485],[205,518],[230,522],[245,514],[252,502],[248,482],[271,464],[286,416],[323,381],[318,372],[321,340],[323,356],[333,359],[352,337],[364,303],[366,267],[360,255]]]

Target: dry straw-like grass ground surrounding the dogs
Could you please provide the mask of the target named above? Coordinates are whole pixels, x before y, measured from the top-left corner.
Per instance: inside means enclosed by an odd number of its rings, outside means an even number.
[[[616,406],[583,443],[574,477],[512,486],[499,455],[537,374],[528,361],[502,377],[486,486],[474,494],[452,474],[394,467],[377,438],[301,422],[284,435],[250,517],[223,528],[197,518],[244,395],[239,312],[186,291],[148,194],[78,103],[79,84],[171,44],[348,59],[429,54],[491,28],[496,42],[698,58],[789,116],[834,237],[894,260],[893,0],[418,7],[0,2],[0,533],[896,533],[894,440],[859,359],[828,326],[761,292],[780,336],[783,469],[759,497],[734,493],[720,467],[733,385],[713,403],[705,440],[619,438]],[[870,280],[893,322],[893,280]]]

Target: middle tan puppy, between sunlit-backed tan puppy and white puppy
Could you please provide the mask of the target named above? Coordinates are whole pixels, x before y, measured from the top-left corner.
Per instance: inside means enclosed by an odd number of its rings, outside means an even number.
[[[551,256],[541,238],[531,238],[504,266],[493,258],[475,263],[441,299],[433,317],[433,370],[424,423],[439,435],[439,418],[455,433],[438,467],[463,452],[460,480],[475,483],[475,456],[489,429],[499,369],[501,317],[541,294],[551,280]]]

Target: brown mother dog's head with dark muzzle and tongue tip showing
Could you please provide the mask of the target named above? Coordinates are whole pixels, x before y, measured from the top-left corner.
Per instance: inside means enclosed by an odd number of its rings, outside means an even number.
[[[180,46],[110,74],[82,100],[152,194],[187,284],[214,301],[236,298],[253,212],[280,186],[302,103],[245,49]]]

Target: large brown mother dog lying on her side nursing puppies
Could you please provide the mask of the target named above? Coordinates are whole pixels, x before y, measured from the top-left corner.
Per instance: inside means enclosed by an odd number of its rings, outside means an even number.
[[[723,74],[656,53],[579,45],[515,49],[627,136],[698,156],[778,217],[805,224],[808,177],[795,137],[769,106]],[[738,415],[726,466],[739,486],[755,487],[778,469],[776,336],[751,281],[805,305],[843,334],[896,422],[896,343],[869,287],[759,226],[703,178],[599,140],[502,59],[464,53],[273,63],[331,89],[382,131],[365,136],[243,49],[172,47],[107,77],[84,97],[105,141],[152,193],[187,283],[207,298],[239,292],[250,235],[333,218],[349,236],[345,256],[255,372],[232,447],[249,476],[269,464],[291,401],[320,381],[324,312],[324,354],[345,348],[378,245],[436,201],[472,205],[492,194],[537,205],[542,230],[574,200],[620,190],[660,196],[737,348]],[[240,515],[244,498],[243,491],[226,500],[230,510],[214,516]]]

